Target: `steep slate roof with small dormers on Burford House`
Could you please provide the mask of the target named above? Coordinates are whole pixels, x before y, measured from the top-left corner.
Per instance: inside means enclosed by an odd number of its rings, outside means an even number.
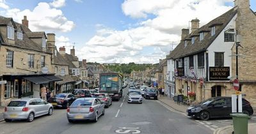
[[[209,22],[208,24],[205,24],[195,32],[186,36],[185,39],[191,38],[192,36],[198,36],[198,33],[202,31],[208,31],[207,33],[204,33],[204,40],[199,41],[198,38],[195,40],[194,44],[191,44],[191,41],[189,41],[190,43],[188,43],[187,47],[184,46],[184,41],[180,41],[179,45],[177,45],[177,47],[170,53],[168,59],[179,59],[181,57],[191,56],[207,50],[207,48],[211,45],[212,41],[217,38],[217,36],[221,33],[221,31],[223,31],[223,29],[227,26],[228,22],[232,20],[236,13],[236,8],[232,8],[223,15],[220,15],[220,17],[211,20],[211,22]],[[211,31],[211,26],[214,25],[218,25],[218,28],[216,28],[215,35],[211,36],[211,32],[209,31]]]

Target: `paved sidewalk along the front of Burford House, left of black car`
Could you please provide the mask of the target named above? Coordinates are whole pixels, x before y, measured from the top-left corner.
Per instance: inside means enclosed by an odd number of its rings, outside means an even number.
[[[158,96],[158,100],[168,105],[169,107],[172,107],[173,109],[186,114],[188,105],[177,104],[173,101],[172,98],[168,98],[167,96]]]

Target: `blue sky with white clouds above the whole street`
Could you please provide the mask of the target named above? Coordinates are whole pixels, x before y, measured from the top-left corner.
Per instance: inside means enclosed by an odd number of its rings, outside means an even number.
[[[25,2],[26,1],[26,2]],[[234,7],[234,0],[0,0],[0,15],[31,31],[56,34],[56,46],[79,60],[159,63],[192,19],[200,26]],[[253,11],[256,0],[250,0]]]

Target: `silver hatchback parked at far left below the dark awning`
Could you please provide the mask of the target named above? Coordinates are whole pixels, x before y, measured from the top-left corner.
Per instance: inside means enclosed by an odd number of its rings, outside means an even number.
[[[35,117],[45,114],[52,115],[52,112],[51,103],[40,98],[20,98],[10,101],[4,108],[4,121],[26,119],[28,122],[32,122]]]

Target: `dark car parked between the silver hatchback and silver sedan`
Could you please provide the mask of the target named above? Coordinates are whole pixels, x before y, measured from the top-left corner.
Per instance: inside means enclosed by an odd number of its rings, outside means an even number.
[[[55,94],[52,98],[49,99],[49,103],[52,104],[53,107],[65,107],[67,108],[72,102],[76,100],[75,96],[70,93],[60,93]]]

